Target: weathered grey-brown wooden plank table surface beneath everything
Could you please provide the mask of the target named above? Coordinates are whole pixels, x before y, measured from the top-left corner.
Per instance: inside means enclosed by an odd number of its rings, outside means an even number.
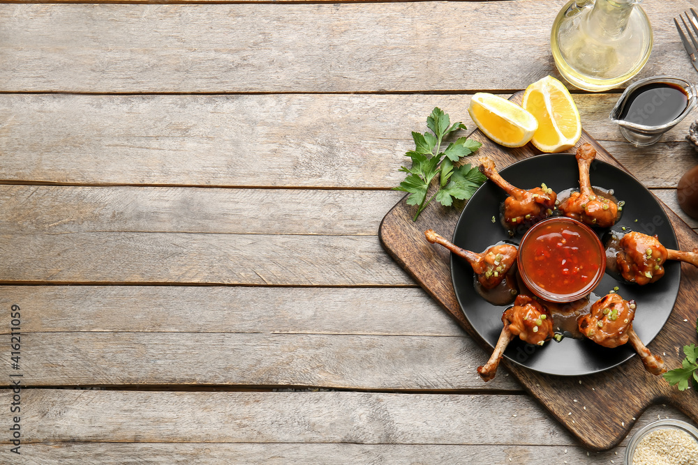
[[[505,369],[483,383],[488,353],[378,241],[433,107],[473,129],[476,91],[560,77],[564,3],[1,4],[0,462],[622,463],[627,439],[589,452]],[[698,81],[692,2],[643,6],[639,77]],[[698,227],[696,115],[634,148],[618,89],[573,92]],[[685,417],[633,431],[657,418]]]

